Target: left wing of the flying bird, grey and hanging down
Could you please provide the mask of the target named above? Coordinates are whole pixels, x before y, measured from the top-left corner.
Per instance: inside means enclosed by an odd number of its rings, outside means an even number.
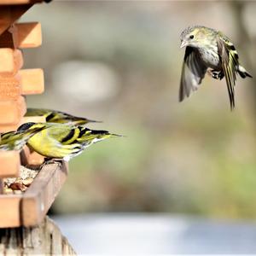
[[[198,49],[187,46],[183,61],[183,70],[179,88],[179,101],[190,95],[191,90],[198,89],[201,80],[207,73],[207,67],[201,57]]]

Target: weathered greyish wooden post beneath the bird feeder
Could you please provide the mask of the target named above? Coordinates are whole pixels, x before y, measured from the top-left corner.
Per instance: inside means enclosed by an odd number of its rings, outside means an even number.
[[[32,228],[0,230],[0,255],[76,255],[61,230],[47,216]]]

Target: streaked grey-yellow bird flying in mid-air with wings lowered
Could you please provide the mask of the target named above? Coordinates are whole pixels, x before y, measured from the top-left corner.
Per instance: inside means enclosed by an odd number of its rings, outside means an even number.
[[[181,48],[186,47],[179,89],[179,101],[197,90],[209,73],[213,79],[223,79],[230,96],[230,108],[235,108],[236,74],[252,78],[239,63],[234,44],[222,32],[206,26],[189,26],[181,33]]]

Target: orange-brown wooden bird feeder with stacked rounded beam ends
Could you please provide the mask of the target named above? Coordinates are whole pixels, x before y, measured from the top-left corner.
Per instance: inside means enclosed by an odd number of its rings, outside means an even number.
[[[44,72],[41,68],[21,69],[24,62],[21,49],[42,44],[41,25],[38,22],[18,22],[26,10],[41,2],[43,0],[0,0],[0,132],[15,131],[28,121],[45,121],[37,116],[24,117],[24,96],[44,92]],[[41,165],[44,157],[30,152],[28,148],[24,148],[22,155],[17,151],[0,151],[1,229],[38,227],[67,177],[67,165],[64,162],[62,165],[45,165],[25,193],[4,195],[3,178],[19,177],[21,162]]]

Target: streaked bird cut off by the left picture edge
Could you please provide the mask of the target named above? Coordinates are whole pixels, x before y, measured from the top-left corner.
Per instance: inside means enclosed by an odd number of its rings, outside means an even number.
[[[2,133],[0,139],[0,150],[21,150],[32,136],[43,129],[44,126],[42,125],[41,127],[33,127],[30,130]]]

